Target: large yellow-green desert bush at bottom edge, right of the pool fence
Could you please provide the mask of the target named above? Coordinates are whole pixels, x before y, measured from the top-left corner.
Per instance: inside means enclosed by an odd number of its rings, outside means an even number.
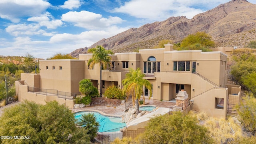
[[[211,144],[207,128],[198,125],[196,116],[174,112],[152,118],[144,133],[137,138],[139,144]]]

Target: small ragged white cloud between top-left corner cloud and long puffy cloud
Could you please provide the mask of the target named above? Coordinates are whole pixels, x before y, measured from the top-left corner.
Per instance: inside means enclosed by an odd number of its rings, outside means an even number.
[[[50,20],[49,17],[53,20]],[[61,20],[54,20],[53,16],[49,12],[46,12],[41,16],[28,18],[28,21],[38,22],[40,26],[46,26],[48,29],[56,29],[58,26],[62,26],[63,24]]]

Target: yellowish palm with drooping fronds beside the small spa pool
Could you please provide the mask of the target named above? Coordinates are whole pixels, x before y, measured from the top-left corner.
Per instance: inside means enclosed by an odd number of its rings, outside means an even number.
[[[133,106],[136,104],[136,114],[139,114],[139,99],[143,94],[143,99],[145,102],[143,87],[149,90],[149,95],[152,96],[152,85],[146,79],[143,79],[145,74],[143,74],[140,68],[134,70],[130,68],[130,72],[126,74],[126,77],[122,80],[124,86],[124,93],[128,96],[132,96]],[[148,98],[150,98],[150,96]]]

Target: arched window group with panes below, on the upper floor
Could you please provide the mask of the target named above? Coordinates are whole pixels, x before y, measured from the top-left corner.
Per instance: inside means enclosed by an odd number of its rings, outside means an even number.
[[[154,74],[154,72],[160,72],[160,62],[156,62],[156,58],[150,56],[148,60],[144,62],[144,74]]]

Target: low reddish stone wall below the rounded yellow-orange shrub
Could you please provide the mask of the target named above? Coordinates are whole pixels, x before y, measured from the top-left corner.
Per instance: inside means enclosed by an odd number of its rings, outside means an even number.
[[[121,104],[121,100],[111,98],[92,98],[91,106],[93,105],[105,105],[105,106],[118,106]]]

